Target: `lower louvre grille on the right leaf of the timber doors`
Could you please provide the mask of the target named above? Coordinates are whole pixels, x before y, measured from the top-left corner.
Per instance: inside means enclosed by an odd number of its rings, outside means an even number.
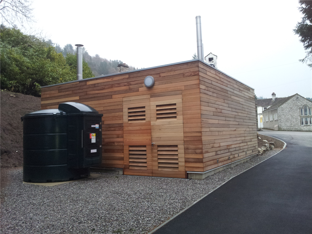
[[[158,145],[158,170],[178,171],[179,158],[177,145]]]

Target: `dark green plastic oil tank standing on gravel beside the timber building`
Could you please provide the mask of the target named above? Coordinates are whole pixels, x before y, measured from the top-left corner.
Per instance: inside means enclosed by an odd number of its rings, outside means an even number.
[[[102,157],[101,116],[92,107],[73,102],[23,116],[23,181],[61,182],[90,176],[90,166],[99,165]],[[89,122],[97,129],[88,131]],[[92,144],[83,139],[89,132],[97,135]],[[90,156],[84,154],[86,148],[100,149]]]

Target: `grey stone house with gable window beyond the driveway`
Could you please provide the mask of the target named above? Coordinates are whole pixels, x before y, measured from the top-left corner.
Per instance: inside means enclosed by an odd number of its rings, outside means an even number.
[[[311,108],[312,102],[299,94],[275,99],[270,107],[262,111],[263,128],[280,131],[312,131]]]

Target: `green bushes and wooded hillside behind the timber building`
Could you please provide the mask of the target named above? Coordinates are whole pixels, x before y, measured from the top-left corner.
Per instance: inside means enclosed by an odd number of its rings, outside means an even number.
[[[82,76],[90,78],[117,73],[120,60],[90,56],[83,47]],[[61,48],[51,40],[26,35],[19,29],[0,26],[0,88],[40,96],[41,86],[76,80],[76,49]],[[129,67],[129,71],[135,70]]]

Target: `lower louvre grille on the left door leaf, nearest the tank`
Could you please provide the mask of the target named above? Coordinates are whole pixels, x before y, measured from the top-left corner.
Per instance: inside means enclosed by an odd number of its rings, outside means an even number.
[[[129,169],[147,169],[146,145],[129,145]]]

